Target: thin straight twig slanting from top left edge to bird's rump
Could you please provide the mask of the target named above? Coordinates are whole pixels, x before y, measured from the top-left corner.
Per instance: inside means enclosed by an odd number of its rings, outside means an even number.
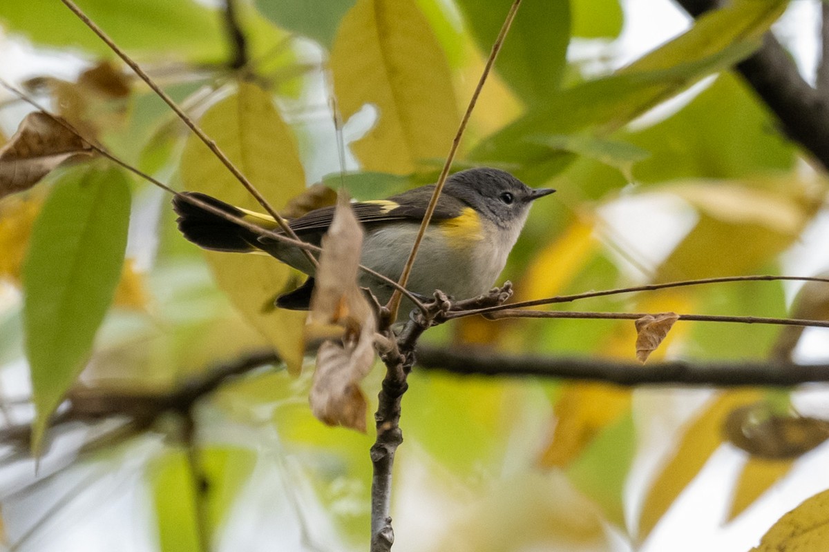
[[[255,185],[253,185],[250,182],[250,180],[248,180],[247,177],[243,175],[242,172],[233,164],[233,162],[230,161],[228,156],[225,155],[225,152],[221,150],[221,148],[216,144],[216,142],[213,139],[211,139],[211,137],[208,137],[205,134],[205,132],[201,130],[201,127],[196,125],[196,122],[193,122],[193,120],[187,115],[187,113],[184,113],[182,111],[182,108],[179,108],[178,104],[175,103],[172,100],[172,98],[170,98],[170,96],[168,96],[167,93],[164,92],[161,89],[161,87],[158,86],[158,84],[155,84],[153,79],[151,79],[150,76],[146,72],[144,72],[143,69],[141,69],[140,65],[135,63],[135,61],[133,61],[132,58],[130,58],[126,53],[124,53],[124,50],[121,50],[119,46],[116,45],[114,41],[112,41],[112,39],[109,38],[109,36],[106,33],[104,33],[104,31],[98,25],[95,24],[95,22],[93,22],[89,17],[87,17],[86,14],[80,9],[80,7],[78,7],[75,4],[75,2],[72,2],[72,0],[61,0],[61,2],[63,2],[65,6],[68,7],[71,10],[71,12],[73,12],[75,16],[77,16],[80,19],[81,22],[84,22],[86,26],[90,27],[90,29],[102,41],[104,41],[104,43],[106,43],[107,46],[109,46],[110,50],[113,50],[114,53],[118,55],[119,58],[121,58],[121,60],[124,60],[124,63],[129,65],[129,67],[133,71],[135,71],[135,74],[138,74],[138,76],[144,81],[144,83],[146,83],[150,87],[150,89],[153,90],[153,92],[158,94],[159,98],[162,98],[162,100],[164,100],[164,103],[167,103],[167,106],[169,106],[169,108],[171,108],[173,112],[175,112],[178,115],[178,117],[182,119],[182,122],[184,122],[184,124],[186,124],[187,127],[189,127],[190,130],[194,132],[197,137],[199,137],[201,142],[204,142],[204,144],[210,149],[210,151],[213,152],[213,155],[215,155],[216,158],[219,159],[219,161],[221,161],[222,164],[225,167],[227,167],[228,170],[230,170],[230,173],[235,176],[236,180],[239,180],[240,183],[243,186],[245,186],[245,190],[248,190],[250,194],[253,195],[255,199],[259,202],[259,204],[262,205],[265,211],[267,211],[268,214],[274,218],[274,220],[279,224],[279,228],[282,228],[282,231],[284,233],[288,234],[288,236],[297,241],[301,241],[298,238],[297,234],[293,232],[293,228],[291,228],[288,225],[288,222],[285,221],[285,219],[281,215],[279,215],[279,213],[276,212],[276,210],[268,203],[267,199],[264,199],[264,195],[259,193],[259,190],[256,189]],[[303,249],[302,251],[304,255],[308,257],[308,262],[311,262],[311,266],[317,266],[317,259],[313,257],[311,252],[309,252],[308,249]]]

